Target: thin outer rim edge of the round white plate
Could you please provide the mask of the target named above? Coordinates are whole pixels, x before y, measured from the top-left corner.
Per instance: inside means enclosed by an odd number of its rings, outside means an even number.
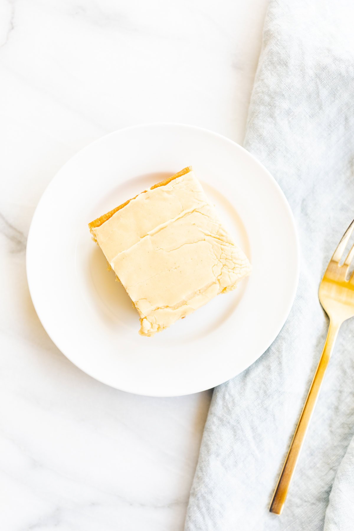
[[[92,148],[93,145],[95,145],[97,143],[100,143],[100,142],[105,142],[110,136],[113,136],[113,135],[117,134],[118,132],[120,134],[124,134],[125,132],[131,131],[131,130],[149,129],[151,127],[182,127],[182,128],[188,128],[188,129],[191,129],[191,130],[194,130],[194,131],[199,131],[199,132],[203,132],[203,133],[207,133],[207,134],[216,136],[219,139],[221,139],[222,141],[226,141],[226,142],[228,142],[231,145],[236,145],[236,147],[238,149],[240,149],[241,151],[244,152],[244,155],[246,155],[246,157],[248,159],[251,159],[253,163],[255,163],[258,167],[260,167],[263,170],[263,172],[265,172],[267,174],[267,176],[270,178],[270,181],[272,182],[273,186],[275,185],[275,188],[277,189],[278,193],[280,194],[280,196],[282,198],[283,206],[286,208],[287,214],[289,216],[289,220],[291,221],[291,227],[292,227],[292,230],[293,230],[293,235],[295,237],[294,243],[295,243],[296,263],[294,264],[295,265],[295,274],[293,275],[293,279],[292,279],[291,297],[289,297],[286,309],[284,309],[282,319],[281,320],[279,319],[279,326],[277,327],[277,332],[275,333],[274,337],[272,337],[272,339],[269,341],[269,344],[267,344],[267,346],[263,350],[263,352],[260,353],[255,359],[253,359],[253,361],[251,363],[247,364],[243,369],[241,369],[236,374],[230,376],[230,378],[228,378],[227,380],[225,380],[223,382],[215,383],[212,387],[206,387],[206,388],[203,387],[203,388],[197,389],[197,390],[187,390],[187,391],[184,391],[184,392],[179,392],[178,395],[176,395],[175,393],[166,394],[166,393],[159,393],[159,392],[151,392],[151,393],[143,392],[142,393],[142,392],[139,392],[139,391],[136,391],[136,390],[124,388],[124,386],[116,387],[116,386],[114,386],[111,383],[107,383],[107,381],[105,381],[104,379],[98,378],[97,376],[93,375],[91,373],[91,371],[88,371],[87,369],[83,369],[83,367],[81,366],[81,363],[76,363],[76,361],[75,362],[72,361],[71,357],[68,356],[67,354],[65,354],[65,352],[59,347],[58,339],[54,340],[53,337],[51,336],[51,333],[49,333],[47,328],[44,326],[44,323],[43,323],[43,321],[41,319],[41,313],[42,312],[40,310],[38,310],[38,306],[37,306],[37,303],[35,301],[36,295],[34,294],[34,292],[36,291],[36,288],[33,287],[33,284],[31,282],[31,278],[30,278],[30,272],[29,272],[29,270],[30,270],[29,262],[30,262],[30,254],[31,254],[31,252],[29,252],[29,249],[31,249],[31,242],[32,242],[32,239],[33,239],[33,231],[34,231],[33,227],[35,226],[36,217],[38,215],[38,211],[40,210],[41,203],[42,203],[42,201],[45,200],[45,195],[46,195],[47,191],[50,189],[51,185],[56,180],[58,174],[61,173],[62,170],[67,165],[69,165],[70,162],[75,157],[77,157],[79,155],[82,155],[85,152],[85,150],[89,150],[90,148]],[[176,397],[176,396],[186,396],[186,395],[194,394],[194,393],[197,393],[197,392],[206,391],[208,389],[213,389],[214,387],[217,387],[217,386],[221,385],[222,383],[225,383],[225,382],[231,380],[232,378],[235,378],[238,374],[241,374],[248,367],[253,365],[257,361],[257,359],[259,359],[266,352],[266,350],[273,344],[274,340],[278,337],[281,329],[283,328],[284,324],[286,323],[286,321],[288,319],[288,316],[289,316],[289,313],[291,311],[292,305],[293,305],[293,303],[295,301],[295,297],[296,297],[296,293],[297,293],[297,289],[298,289],[298,284],[299,284],[299,276],[300,276],[300,244],[299,244],[299,237],[298,237],[298,230],[297,230],[296,220],[295,220],[293,212],[292,212],[292,210],[290,208],[290,205],[289,205],[289,202],[288,202],[288,200],[286,198],[286,195],[282,191],[282,189],[281,189],[280,185],[278,184],[278,182],[275,180],[275,178],[269,172],[269,170],[267,170],[267,168],[262,164],[262,162],[260,162],[251,152],[247,151],[243,146],[241,146],[240,144],[238,144],[234,140],[231,140],[227,136],[222,135],[222,134],[220,134],[220,133],[218,133],[216,131],[212,131],[212,130],[206,129],[204,127],[200,127],[200,126],[196,126],[196,125],[192,125],[192,124],[179,123],[179,122],[150,122],[150,123],[143,123],[143,124],[136,124],[136,125],[130,125],[130,126],[127,126],[127,127],[122,127],[122,128],[117,129],[115,131],[111,131],[108,134],[100,136],[96,140],[93,140],[92,142],[89,142],[87,145],[84,145],[83,148],[81,148],[78,151],[76,151],[57,170],[57,172],[50,179],[50,181],[47,184],[45,190],[42,192],[42,194],[40,196],[40,199],[39,199],[39,201],[37,203],[37,206],[36,206],[36,208],[34,209],[34,212],[33,212],[33,216],[32,216],[31,223],[30,223],[30,228],[29,228],[29,232],[28,232],[28,238],[27,238],[25,267],[26,267],[26,276],[27,276],[29,292],[30,292],[32,304],[34,306],[34,310],[36,311],[36,313],[38,315],[38,319],[40,320],[41,325],[45,329],[45,331],[46,331],[47,335],[49,336],[50,340],[53,341],[53,343],[60,350],[60,352],[73,365],[75,365],[78,369],[80,369],[85,374],[89,375],[90,378],[93,378],[94,380],[97,380],[97,381],[99,381],[99,382],[101,382],[101,383],[103,383],[103,384],[105,384],[105,385],[107,385],[107,386],[109,386],[109,387],[111,387],[113,389],[118,389],[120,391],[129,392],[129,393],[132,393],[132,394],[138,395],[138,396],[150,396],[150,397],[157,397],[157,398],[159,398],[159,397],[160,398],[162,398],[162,397]]]

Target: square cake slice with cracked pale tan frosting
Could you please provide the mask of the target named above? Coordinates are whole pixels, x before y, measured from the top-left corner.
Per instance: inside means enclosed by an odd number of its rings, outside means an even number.
[[[191,167],[89,227],[139,312],[143,336],[235,289],[251,272]]]

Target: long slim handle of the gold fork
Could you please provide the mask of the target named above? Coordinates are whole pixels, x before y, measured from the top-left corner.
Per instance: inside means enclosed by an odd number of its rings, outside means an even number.
[[[320,394],[322,381],[327,369],[327,365],[330,361],[334,343],[340,327],[341,323],[332,322],[330,320],[330,326],[328,329],[326,342],[322,350],[320,361],[318,362],[317,369],[311,383],[311,387],[308,391],[305,405],[301,412],[299,422],[296,426],[296,430],[290,444],[288,455],[281,470],[278,483],[275,487],[273,498],[271,501],[269,510],[270,512],[274,512],[277,515],[281,515],[281,512],[283,510],[291,478],[293,473],[295,472],[296,464],[300,455],[301,448],[303,447],[307,428],[310,423],[313,410],[315,409],[317,397]]]

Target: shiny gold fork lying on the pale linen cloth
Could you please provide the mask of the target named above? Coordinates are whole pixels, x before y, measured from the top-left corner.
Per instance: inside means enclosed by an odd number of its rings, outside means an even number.
[[[305,435],[310,423],[317,397],[320,394],[321,384],[327,365],[333,351],[336,337],[344,321],[354,316],[354,274],[348,278],[348,269],[354,258],[354,245],[342,265],[339,262],[343,258],[351,233],[354,229],[354,220],[349,225],[346,233],[339,242],[338,247],[327,266],[318,291],[318,297],[326,314],[330,318],[326,342],[318,362],[311,387],[301,412],[295,434],[292,438],[287,458],[281,470],[277,486],[275,487],[270,512],[281,515],[287,498],[289,485],[296,464],[303,447]]]

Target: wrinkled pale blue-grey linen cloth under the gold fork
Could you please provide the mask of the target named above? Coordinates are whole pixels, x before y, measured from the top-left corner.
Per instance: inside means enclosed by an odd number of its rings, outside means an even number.
[[[270,3],[245,147],[295,215],[300,281],[273,345],[214,390],[186,531],[354,530],[354,320],[341,329],[283,513],[268,511],[325,341],[318,286],[354,217],[353,14],[342,0]]]

